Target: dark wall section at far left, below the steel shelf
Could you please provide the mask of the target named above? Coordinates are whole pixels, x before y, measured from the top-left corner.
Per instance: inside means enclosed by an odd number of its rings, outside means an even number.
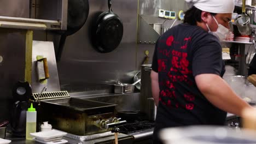
[[[25,36],[24,30],[0,29],[0,122],[9,119],[15,83],[25,79]]]

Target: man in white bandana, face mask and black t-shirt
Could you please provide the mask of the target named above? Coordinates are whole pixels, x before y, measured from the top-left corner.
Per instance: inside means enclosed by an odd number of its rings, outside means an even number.
[[[159,130],[184,125],[223,125],[226,112],[253,109],[222,79],[220,40],[229,32],[234,0],[185,0],[184,23],[162,34],[155,45],[152,93]]]

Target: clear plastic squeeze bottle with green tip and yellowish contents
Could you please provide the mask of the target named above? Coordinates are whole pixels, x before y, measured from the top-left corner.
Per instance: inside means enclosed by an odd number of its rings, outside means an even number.
[[[26,119],[26,139],[32,140],[33,137],[30,135],[30,133],[36,133],[37,128],[37,111],[33,108],[33,104],[31,104],[30,108],[27,109]]]

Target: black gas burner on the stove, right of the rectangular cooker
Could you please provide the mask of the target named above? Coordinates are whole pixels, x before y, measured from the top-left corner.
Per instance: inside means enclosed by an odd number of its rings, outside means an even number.
[[[130,134],[138,131],[154,128],[154,123],[149,121],[138,121],[119,126],[120,133]]]

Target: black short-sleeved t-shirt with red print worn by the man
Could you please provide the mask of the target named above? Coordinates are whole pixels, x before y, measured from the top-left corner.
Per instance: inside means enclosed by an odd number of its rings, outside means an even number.
[[[173,27],[155,45],[152,70],[158,72],[160,88],[154,138],[166,127],[224,124],[226,112],[212,105],[195,82],[196,75],[225,72],[214,35],[185,23]]]

